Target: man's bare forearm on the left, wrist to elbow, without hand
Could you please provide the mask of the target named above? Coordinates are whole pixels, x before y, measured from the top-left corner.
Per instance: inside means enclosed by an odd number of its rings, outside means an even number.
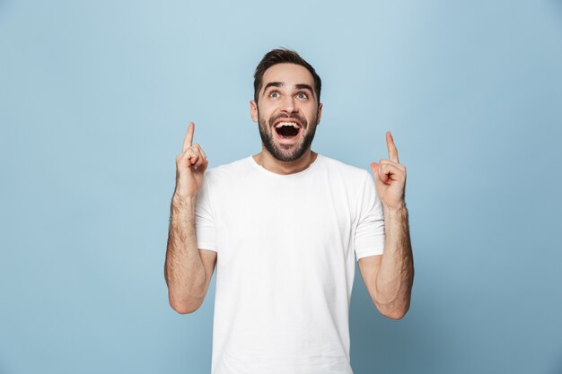
[[[205,298],[206,274],[195,234],[195,196],[174,195],[164,276],[170,304],[180,312],[198,309]]]

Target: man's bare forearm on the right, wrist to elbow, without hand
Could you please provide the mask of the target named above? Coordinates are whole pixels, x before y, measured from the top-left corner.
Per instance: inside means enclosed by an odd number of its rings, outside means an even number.
[[[384,209],[385,245],[376,279],[376,302],[385,315],[402,317],[409,308],[414,260],[406,207]]]

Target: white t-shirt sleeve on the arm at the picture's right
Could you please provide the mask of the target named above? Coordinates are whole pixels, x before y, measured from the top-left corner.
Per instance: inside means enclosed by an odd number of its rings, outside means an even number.
[[[357,260],[362,257],[382,255],[384,251],[384,213],[376,194],[374,180],[364,172],[362,190],[357,202],[358,219],[354,243]]]

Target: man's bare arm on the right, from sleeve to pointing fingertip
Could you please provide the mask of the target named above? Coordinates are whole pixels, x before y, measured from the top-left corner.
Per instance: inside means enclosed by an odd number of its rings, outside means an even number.
[[[377,195],[384,211],[384,253],[360,258],[358,265],[376,308],[386,317],[400,319],[409,309],[414,258],[404,199],[406,167],[398,160],[398,151],[390,132],[386,134],[386,143],[389,160],[371,164]]]

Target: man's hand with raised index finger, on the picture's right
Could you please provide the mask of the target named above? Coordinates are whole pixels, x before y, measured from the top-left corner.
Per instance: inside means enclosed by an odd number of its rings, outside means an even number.
[[[374,184],[384,208],[400,209],[406,206],[404,203],[406,167],[398,161],[398,150],[390,131],[386,133],[386,145],[390,160],[371,163]]]

